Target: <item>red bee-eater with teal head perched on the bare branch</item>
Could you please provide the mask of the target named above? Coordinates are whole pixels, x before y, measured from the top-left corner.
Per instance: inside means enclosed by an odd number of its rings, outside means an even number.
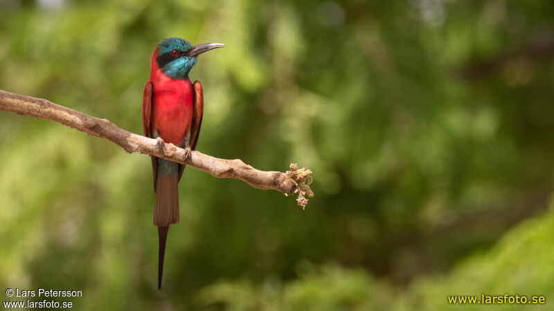
[[[195,150],[204,113],[200,82],[190,82],[188,73],[196,57],[223,44],[191,45],[181,38],[163,39],[150,59],[150,79],[144,86],[143,129],[149,138],[170,142],[186,150]],[[152,157],[154,172],[154,225],[158,227],[158,289],[161,288],[163,256],[169,226],[179,222],[179,190],[185,166]]]

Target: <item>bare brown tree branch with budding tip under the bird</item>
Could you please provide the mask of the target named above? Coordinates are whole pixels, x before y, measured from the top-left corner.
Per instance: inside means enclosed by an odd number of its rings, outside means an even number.
[[[114,142],[128,153],[139,152],[157,156],[166,160],[195,167],[217,178],[238,178],[252,187],[259,189],[275,189],[287,196],[298,194],[296,201],[303,208],[307,204],[307,196],[313,196],[309,185],[312,181],[309,169],[298,169],[296,164],[290,165],[290,171],[260,171],[254,169],[242,160],[225,160],[208,156],[199,151],[193,151],[188,160],[184,160],[185,151],[174,144],[161,143],[152,138],[136,135],[120,129],[107,119],[98,119],[85,113],[54,104],[48,100],[19,95],[0,90],[0,110],[11,111],[19,115],[30,115],[69,126],[110,142]]]

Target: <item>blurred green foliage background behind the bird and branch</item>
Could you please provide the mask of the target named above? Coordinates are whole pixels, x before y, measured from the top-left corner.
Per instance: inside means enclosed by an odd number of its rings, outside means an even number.
[[[553,1],[3,0],[0,88],[142,133],[171,36],[226,44],[190,74],[197,149],[298,162],[316,196],[186,169],[159,291],[150,158],[0,111],[1,290],[82,290],[75,310],[551,309]],[[546,305],[447,303],[506,293]]]

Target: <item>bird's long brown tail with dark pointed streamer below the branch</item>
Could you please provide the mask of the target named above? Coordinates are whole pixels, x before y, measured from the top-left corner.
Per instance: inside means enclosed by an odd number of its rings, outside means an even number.
[[[163,257],[166,253],[166,239],[168,238],[169,226],[179,223],[179,190],[177,188],[179,178],[174,173],[179,170],[179,164],[163,159],[157,160],[158,175],[156,177],[154,225],[158,227],[158,289],[161,289]]]

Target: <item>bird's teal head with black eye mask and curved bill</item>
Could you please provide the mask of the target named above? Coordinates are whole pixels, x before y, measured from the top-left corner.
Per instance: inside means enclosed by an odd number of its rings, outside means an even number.
[[[171,37],[158,44],[158,67],[168,77],[186,79],[190,69],[196,64],[196,57],[208,50],[222,48],[224,44],[198,44],[193,46],[185,39]]]

